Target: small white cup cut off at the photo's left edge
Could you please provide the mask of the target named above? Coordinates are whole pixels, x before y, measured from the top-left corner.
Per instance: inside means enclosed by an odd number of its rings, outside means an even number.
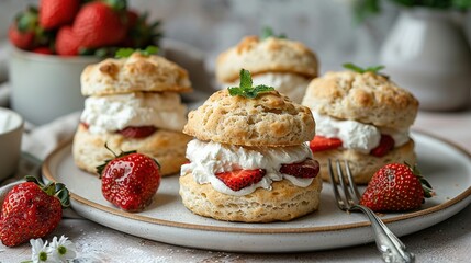
[[[0,181],[12,175],[21,157],[24,121],[20,114],[0,107]]]

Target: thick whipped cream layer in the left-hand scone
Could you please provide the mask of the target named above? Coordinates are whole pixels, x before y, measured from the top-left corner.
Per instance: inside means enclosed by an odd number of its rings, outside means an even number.
[[[155,126],[181,132],[187,108],[173,92],[89,96],[80,121],[92,134],[115,132],[128,126]]]

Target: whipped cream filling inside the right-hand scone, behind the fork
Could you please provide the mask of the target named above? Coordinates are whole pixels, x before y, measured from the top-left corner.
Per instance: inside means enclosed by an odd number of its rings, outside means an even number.
[[[408,129],[379,129],[371,124],[337,119],[316,112],[313,112],[313,115],[316,123],[316,135],[339,138],[346,149],[369,153],[380,144],[381,134],[390,135],[394,139],[394,147],[402,146],[410,140]]]

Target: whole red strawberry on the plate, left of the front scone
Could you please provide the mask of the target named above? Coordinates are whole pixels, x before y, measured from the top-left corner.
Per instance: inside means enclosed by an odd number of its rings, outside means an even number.
[[[104,198],[126,211],[143,210],[160,185],[157,161],[135,151],[115,156],[97,171]]]

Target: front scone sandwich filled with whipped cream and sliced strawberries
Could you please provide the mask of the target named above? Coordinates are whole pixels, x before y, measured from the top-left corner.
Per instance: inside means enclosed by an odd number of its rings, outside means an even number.
[[[189,163],[180,195],[197,215],[218,220],[291,220],[316,210],[322,180],[309,141],[311,111],[278,91],[255,99],[211,95],[189,113]]]

